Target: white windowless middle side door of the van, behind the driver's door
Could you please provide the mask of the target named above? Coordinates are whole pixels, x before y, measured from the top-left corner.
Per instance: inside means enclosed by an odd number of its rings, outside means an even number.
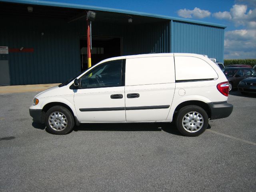
[[[163,55],[126,58],[127,122],[166,120],[175,90],[175,71],[174,57]],[[139,94],[139,97],[128,98],[128,94]],[[147,109],[149,106],[153,109]],[[131,107],[135,109],[128,110]]]

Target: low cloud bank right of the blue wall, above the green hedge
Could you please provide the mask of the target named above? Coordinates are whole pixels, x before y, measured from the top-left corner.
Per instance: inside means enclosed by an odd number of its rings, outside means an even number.
[[[224,58],[256,58],[256,30],[225,32]]]

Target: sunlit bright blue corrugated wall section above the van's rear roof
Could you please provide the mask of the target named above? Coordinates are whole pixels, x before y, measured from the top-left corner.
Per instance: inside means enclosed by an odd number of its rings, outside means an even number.
[[[224,29],[173,21],[172,52],[208,55],[224,61]]]

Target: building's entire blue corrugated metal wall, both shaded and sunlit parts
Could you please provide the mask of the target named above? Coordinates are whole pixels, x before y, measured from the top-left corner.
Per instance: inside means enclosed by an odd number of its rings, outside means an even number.
[[[86,22],[2,21],[0,46],[34,48],[32,53],[0,55],[9,60],[11,85],[59,83],[80,73],[80,35],[86,35]],[[123,55],[190,52],[223,61],[223,28],[176,21],[140,25],[94,22],[92,34],[121,37]]]

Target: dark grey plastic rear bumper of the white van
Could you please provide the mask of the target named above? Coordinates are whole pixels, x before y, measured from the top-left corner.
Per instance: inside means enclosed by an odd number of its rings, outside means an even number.
[[[210,119],[221,119],[230,116],[233,110],[233,105],[228,102],[212,102],[208,103],[208,106],[211,110]]]

